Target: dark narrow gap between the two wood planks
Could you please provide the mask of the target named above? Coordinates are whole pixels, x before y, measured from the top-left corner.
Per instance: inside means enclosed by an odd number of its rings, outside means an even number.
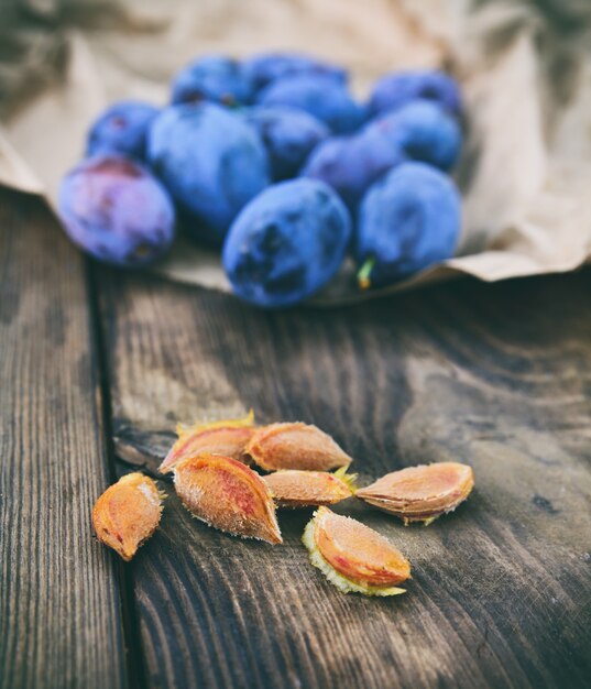
[[[89,305],[90,336],[97,352],[98,368],[98,396],[97,408],[105,436],[107,464],[110,482],[118,480],[114,460],[114,444],[111,416],[111,391],[109,385],[109,354],[105,338],[105,328],[100,316],[100,304],[97,289],[96,266],[90,259],[85,258],[86,284]],[[118,557],[117,575],[119,579],[119,592],[121,599],[121,616],[123,623],[123,642],[125,644],[124,656],[130,689],[142,689],[145,682],[145,664],[142,648],[139,614],[135,604],[133,576],[129,566]]]

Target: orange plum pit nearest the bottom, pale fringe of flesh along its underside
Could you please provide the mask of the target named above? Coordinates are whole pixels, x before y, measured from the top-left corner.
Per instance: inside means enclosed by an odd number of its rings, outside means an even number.
[[[411,565],[390,540],[351,517],[319,507],[303,539],[310,562],[338,589],[365,595],[397,595]]]

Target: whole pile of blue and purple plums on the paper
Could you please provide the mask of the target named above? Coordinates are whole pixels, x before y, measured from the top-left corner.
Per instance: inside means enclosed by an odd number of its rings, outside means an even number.
[[[360,103],[347,80],[304,55],[211,55],[176,76],[171,105],[114,103],[62,183],[67,233],[100,261],[141,266],[179,225],[220,248],[236,294],[263,307],[313,295],[348,253],[361,288],[450,258],[458,84],[395,72]]]

